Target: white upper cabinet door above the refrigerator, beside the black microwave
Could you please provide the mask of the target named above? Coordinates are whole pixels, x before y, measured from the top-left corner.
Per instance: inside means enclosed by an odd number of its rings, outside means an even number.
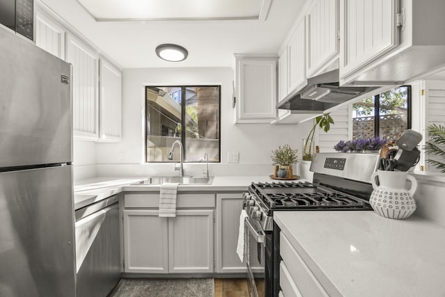
[[[63,26],[44,13],[36,13],[35,44],[62,60],[65,60],[65,32]]]

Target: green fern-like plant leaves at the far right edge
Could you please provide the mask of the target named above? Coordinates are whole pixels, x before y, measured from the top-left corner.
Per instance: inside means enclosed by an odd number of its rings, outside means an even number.
[[[435,154],[438,157],[445,157],[445,127],[442,125],[432,124],[427,128],[428,134],[431,139],[426,143],[425,152],[427,154]],[[445,173],[445,163],[437,160],[428,159],[426,160],[432,166],[437,168],[442,173]]]

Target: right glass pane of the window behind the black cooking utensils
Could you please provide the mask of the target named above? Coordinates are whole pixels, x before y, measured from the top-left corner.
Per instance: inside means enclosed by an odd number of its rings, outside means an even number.
[[[407,87],[380,94],[379,136],[397,139],[407,129]]]

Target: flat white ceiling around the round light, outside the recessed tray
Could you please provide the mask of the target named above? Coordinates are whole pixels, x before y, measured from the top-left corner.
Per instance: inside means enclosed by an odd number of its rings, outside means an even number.
[[[40,1],[124,68],[232,67],[234,54],[276,54],[305,2],[305,0],[272,0],[265,21],[219,19],[97,22],[95,17],[92,17],[76,0]],[[113,0],[116,1],[118,0]],[[216,0],[193,1],[206,3]],[[268,0],[261,0],[261,3],[263,1]],[[108,3],[107,5],[111,3],[111,1],[95,2]],[[236,0],[229,2],[232,3],[231,8],[234,8],[233,3],[236,3]],[[243,0],[238,2],[243,3]],[[238,13],[245,14],[249,9],[258,10],[258,0],[247,2],[251,4],[250,8],[240,7]],[[218,13],[220,6],[215,8]],[[100,11],[96,4],[95,10]],[[236,10],[232,10],[232,15],[234,13],[237,13]],[[99,17],[100,15],[97,15],[97,18]],[[167,62],[158,58],[154,49],[163,43],[175,43],[186,47],[188,50],[186,61]]]

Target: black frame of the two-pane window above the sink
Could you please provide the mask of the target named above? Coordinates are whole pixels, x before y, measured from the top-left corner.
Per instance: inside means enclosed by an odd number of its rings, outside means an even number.
[[[200,84],[188,84],[188,85],[167,85],[167,84],[156,84],[156,85],[146,85],[144,86],[145,90],[145,100],[144,100],[144,159],[145,163],[175,163],[176,161],[148,161],[147,160],[147,124],[149,122],[149,114],[147,111],[147,88],[181,88],[181,127],[184,127],[184,123],[186,122],[186,88],[218,88],[218,152],[219,152],[219,160],[218,161],[210,161],[209,163],[221,163],[221,85],[200,85]],[[184,156],[184,163],[200,163],[200,161],[186,161],[186,129],[181,129],[181,143],[182,143],[182,155]]]

